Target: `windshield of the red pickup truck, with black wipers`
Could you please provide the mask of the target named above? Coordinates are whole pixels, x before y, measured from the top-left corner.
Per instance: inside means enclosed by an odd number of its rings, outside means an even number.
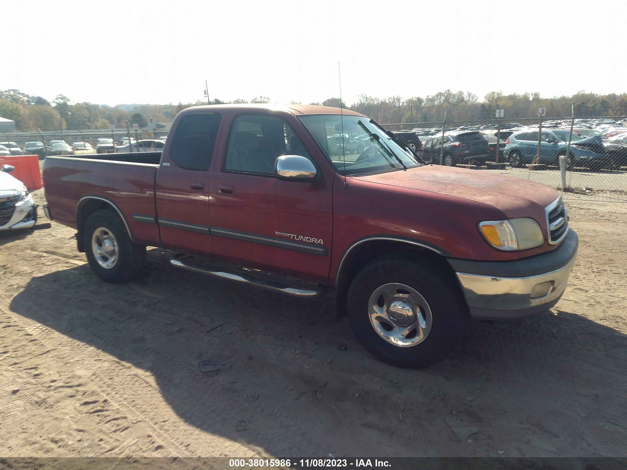
[[[401,148],[367,117],[349,115],[342,120],[339,114],[312,114],[300,116],[300,120],[342,175],[420,165],[409,150]]]

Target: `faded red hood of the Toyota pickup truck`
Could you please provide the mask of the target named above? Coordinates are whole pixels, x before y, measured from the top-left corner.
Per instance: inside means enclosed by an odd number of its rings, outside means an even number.
[[[526,179],[440,165],[357,178],[483,202],[496,207],[507,217],[532,217],[538,222],[544,221],[545,207],[559,197],[551,187]]]

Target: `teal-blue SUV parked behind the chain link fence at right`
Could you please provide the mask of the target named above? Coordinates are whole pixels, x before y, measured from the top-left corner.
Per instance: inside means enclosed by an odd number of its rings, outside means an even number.
[[[540,137],[540,157],[538,162],[545,165],[559,165],[559,157],[566,155],[570,130],[543,129],[522,130],[508,137],[505,155],[512,167],[522,167],[531,163],[537,155],[538,138]],[[588,167],[591,170],[613,168],[611,157],[603,147],[600,136],[581,138],[572,134],[571,155],[566,162],[568,169],[574,167]]]

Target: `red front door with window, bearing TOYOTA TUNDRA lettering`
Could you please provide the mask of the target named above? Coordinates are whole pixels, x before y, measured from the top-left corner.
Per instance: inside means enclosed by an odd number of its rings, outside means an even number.
[[[209,191],[214,256],[324,281],[330,265],[332,180],[278,180],[274,162],[280,155],[302,155],[315,165],[283,118],[234,119],[222,169],[214,171]]]

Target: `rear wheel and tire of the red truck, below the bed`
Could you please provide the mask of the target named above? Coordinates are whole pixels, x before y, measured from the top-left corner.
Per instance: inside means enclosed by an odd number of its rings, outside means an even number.
[[[112,209],[94,212],[83,228],[83,246],[92,271],[108,283],[136,278],[146,263],[146,247],[133,243]]]

